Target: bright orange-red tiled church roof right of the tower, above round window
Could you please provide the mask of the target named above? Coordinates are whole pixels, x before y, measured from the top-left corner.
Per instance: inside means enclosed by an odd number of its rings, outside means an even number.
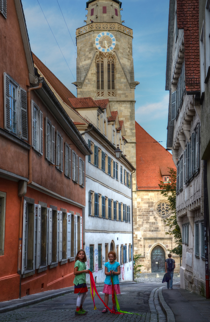
[[[158,184],[163,180],[160,168],[162,171],[168,167],[176,169],[172,155],[137,122],[135,128],[137,190],[160,190]]]

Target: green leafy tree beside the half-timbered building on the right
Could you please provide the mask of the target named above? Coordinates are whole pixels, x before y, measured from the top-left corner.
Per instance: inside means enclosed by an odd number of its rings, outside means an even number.
[[[170,252],[182,256],[182,236],[179,225],[177,223],[177,214],[176,214],[176,183],[177,183],[177,171],[173,168],[169,168],[170,173],[170,181],[164,183],[160,181],[159,187],[162,190],[160,193],[164,197],[168,197],[168,201],[170,204],[170,210],[172,215],[169,218],[163,219],[166,226],[169,227],[169,231],[166,232],[166,235],[173,235],[174,241],[177,246],[171,250]]]

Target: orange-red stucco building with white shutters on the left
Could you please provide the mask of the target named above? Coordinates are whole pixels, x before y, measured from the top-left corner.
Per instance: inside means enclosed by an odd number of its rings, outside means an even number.
[[[92,153],[33,67],[21,1],[6,3],[0,13],[0,301],[73,285],[75,254],[83,246],[85,156]]]

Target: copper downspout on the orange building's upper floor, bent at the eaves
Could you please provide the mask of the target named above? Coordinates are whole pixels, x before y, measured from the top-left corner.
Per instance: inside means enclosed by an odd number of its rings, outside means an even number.
[[[39,77],[39,86],[30,87],[27,90],[27,106],[28,106],[28,143],[30,144],[30,150],[28,154],[28,183],[32,183],[32,121],[31,121],[31,91],[39,90],[42,87],[43,77]]]

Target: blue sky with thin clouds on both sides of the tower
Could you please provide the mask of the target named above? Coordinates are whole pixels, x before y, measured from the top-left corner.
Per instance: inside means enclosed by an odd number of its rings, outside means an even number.
[[[41,8],[55,35],[50,31]],[[85,0],[22,0],[31,49],[76,95],[76,35],[85,25]],[[68,29],[59,9],[59,5]],[[169,92],[165,91],[169,0],[123,0],[122,20],[133,29],[136,121],[166,147]],[[73,74],[73,75],[72,75]]]

